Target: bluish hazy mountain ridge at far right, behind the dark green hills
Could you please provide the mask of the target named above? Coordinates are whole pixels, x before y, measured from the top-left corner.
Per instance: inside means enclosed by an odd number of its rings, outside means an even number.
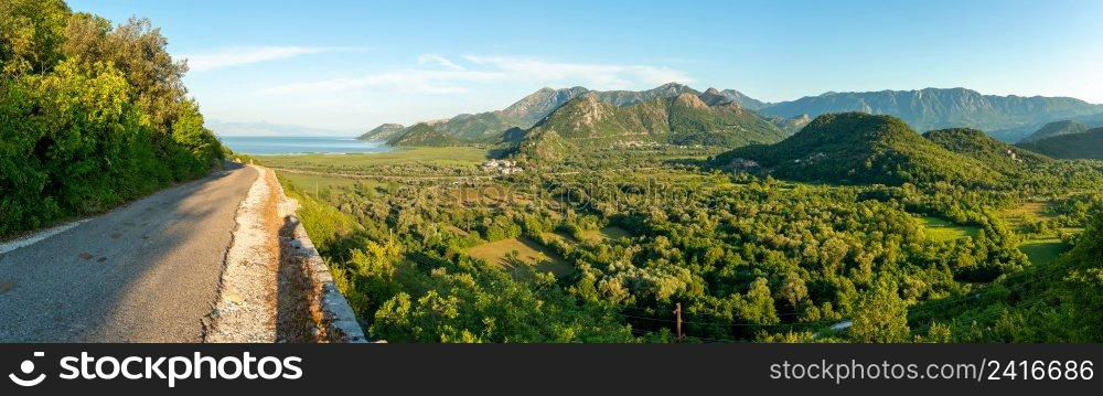
[[[826,93],[760,109],[762,114],[781,117],[846,111],[900,117],[921,131],[959,127],[996,131],[1097,114],[1103,106],[1069,97],[994,96],[965,88],[927,88]]]

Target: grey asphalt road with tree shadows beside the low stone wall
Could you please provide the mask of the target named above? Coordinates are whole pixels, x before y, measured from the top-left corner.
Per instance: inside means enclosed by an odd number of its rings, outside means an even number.
[[[200,342],[258,175],[231,165],[0,255],[0,342]]]

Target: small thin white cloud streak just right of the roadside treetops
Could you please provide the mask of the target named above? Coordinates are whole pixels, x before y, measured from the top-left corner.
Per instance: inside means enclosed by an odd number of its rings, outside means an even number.
[[[335,46],[233,46],[210,53],[180,55],[180,57],[188,60],[189,69],[192,72],[210,72],[251,63],[286,60],[299,55],[353,50]]]

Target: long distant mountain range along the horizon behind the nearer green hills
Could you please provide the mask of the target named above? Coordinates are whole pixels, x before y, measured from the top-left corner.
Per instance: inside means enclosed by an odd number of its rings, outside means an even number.
[[[1019,141],[1047,122],[1068,119],[1103,122],[1103,105],[1068,97],[995,96],[965,88],[927,88],[826,93],[771,104],[756,100],[735,89],[709,88],[698,92],[686,85],[670,83],[639,92],[600,92],[585,87],[542,88],[502,110],[464,114],[425,124],[461,140],[493,141],[500,140],[501,135],[511,128],[531,129],[565,104],[583,96],[592,96],[596,101],[613,107],[628,107],[683,94],[693,95],[709,107],[736,104],[789,133],[795,133],[820,115],[849,111],[891,115],[919,131],[979,129],[1006,142]],[[361,139],[388,140],[400,133],[403,129],[399,127],[386,124],[364,133]]]

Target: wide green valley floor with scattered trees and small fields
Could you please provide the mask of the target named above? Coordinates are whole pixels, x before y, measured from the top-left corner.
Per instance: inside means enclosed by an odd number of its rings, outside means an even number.
[[[829,328],[886,303],[902,307],[893,340],[989,340],[1018,306],[970,297],[1053,265],[1083,231],[1070,205],[1099,194],[793,183],[708,156],[609,151],[508,176],[473,148],[259,160],[317,206],[303,221],[342,292],[392,342],[663,342],[676,301],[698,342],[872,341]],[[515,306],[529,299],[543,308]]]

